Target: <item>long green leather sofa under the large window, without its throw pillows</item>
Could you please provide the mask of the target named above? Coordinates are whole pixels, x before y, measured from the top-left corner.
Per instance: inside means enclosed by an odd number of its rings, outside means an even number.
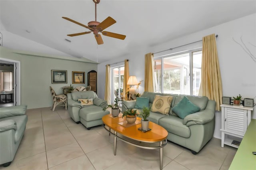
[[[208,100],[208,97],[175,95],[165,93],[144,92],[141,97],[150,97],[150,107],[155,95],[173,96],[168,115],[150,112],[148,119],[168,131],[167,140],[184,146],[191,150],[192,154],[197,154],[204,145],[212,138],[215,128],[215,106],[216,102]],[[186,96],[189,101],[200,108],[200,111],[186,116],[184,119],[172,112],[172,108]],[[126,109],[134,108],[136,101],[123,101],[122,112]],[[135,108],[134,108],[135,109]],[[136,109],[140,112],[140,109]]]

